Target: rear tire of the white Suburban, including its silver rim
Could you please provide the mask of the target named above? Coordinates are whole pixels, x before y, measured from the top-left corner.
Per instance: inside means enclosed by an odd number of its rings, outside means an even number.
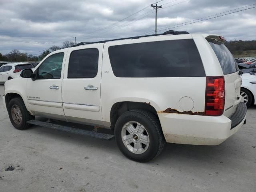
[[[114,134],[122,154],[137,162],[154,159],[166,143],[158,118],[146,110],[122,114],[116,121]]]

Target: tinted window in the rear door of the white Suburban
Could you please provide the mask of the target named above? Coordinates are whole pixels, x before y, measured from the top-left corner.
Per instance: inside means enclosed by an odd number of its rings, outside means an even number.
[[[76,50],[70,54],[68,78],[94,78],[98,73],[99,51],[96,48]]]

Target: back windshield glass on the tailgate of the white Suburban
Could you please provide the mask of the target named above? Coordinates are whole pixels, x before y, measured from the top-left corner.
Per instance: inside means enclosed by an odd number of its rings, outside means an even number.
[[[207,39],[207,41],[214,50],[224,75],[231,74],[239,70],[233,55],[224,44],[213,39]]]

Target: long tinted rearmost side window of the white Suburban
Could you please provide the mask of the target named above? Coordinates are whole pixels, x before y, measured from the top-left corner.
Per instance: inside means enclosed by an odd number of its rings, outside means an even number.
[[[192,39],[110,46],[108,52],[117,77],[205,76]]]

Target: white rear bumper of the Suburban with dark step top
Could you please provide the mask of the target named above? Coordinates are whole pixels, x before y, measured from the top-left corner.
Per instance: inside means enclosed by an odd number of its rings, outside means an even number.
[[[167,142],[218,145],[243,126],[246,111],[241,102],[230,118],[224,115],[214,117],[172,113],[158,113],[158,116]]]

